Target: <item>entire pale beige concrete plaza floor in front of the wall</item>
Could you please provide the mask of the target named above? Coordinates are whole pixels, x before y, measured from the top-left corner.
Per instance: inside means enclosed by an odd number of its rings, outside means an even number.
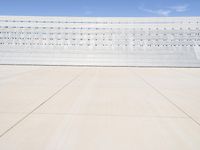
[[[0,150],[134,149],[200,149],[200,68],[0,66]]]

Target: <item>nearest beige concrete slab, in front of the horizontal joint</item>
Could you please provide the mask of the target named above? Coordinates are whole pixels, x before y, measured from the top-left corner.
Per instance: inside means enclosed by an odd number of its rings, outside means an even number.
[[[4,150],[198,150],[200,128],[187,118],[32,115],[0,141]]]

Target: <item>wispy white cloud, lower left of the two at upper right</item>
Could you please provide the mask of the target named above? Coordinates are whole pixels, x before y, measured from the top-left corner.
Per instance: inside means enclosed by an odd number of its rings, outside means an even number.
[[[153,9],[146,9],[146,8],[143,8],[143,7],[139,7],[139,9],[142,10],[142,11],[148,12],[148,13],[159,15],[159,16],[169,16],[171,14],[171,12],[172,12],[169,9],[156,9],[156,10],[153,10]]]

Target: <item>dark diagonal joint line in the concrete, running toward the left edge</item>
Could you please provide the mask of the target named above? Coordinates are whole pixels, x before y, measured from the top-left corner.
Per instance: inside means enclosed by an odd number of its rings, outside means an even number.
[[[15,124],[13,124],[10,128],[8,128],[6,131],[4,131],[1,135],[0,138],[2,138],[5,134],[7,134],[10,130],[12,130],[13,128],[15,128],[17,125],[19,125],[22,121],[24,121],[25,119],[27,119],[32,113],[34,113],[37,109],[39,109],[41,106],[43,106],[45,103],[47,103],[48,101],[50,101],[53,97],[55,97],[58,93],[60,93],[65,87],[69,86],[73,81],[75,81],[77,78],[79,78],[83,72],[85,72],[86,70],[84,69],[83,71],[81,71],[81,73],[79,73],[78,75],[76,75],[74,78],[72,78],[69,82],[67,82],[64,86],[62,86],[61,88],[59,88],[54,94],[52,94],[50,97],[48,97],[45,101],[43,101],[42,103],[40,103],[37,107],[35,107],[31,112],[29,112],[28,114],[26,114],[24,117],[22,117],[20,120],[18,120]]]

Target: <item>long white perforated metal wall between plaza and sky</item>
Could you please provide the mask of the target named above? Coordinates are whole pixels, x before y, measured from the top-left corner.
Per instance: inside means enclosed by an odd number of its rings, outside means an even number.
[[[1,16],[0,64],[200,67],[200,18]]]

